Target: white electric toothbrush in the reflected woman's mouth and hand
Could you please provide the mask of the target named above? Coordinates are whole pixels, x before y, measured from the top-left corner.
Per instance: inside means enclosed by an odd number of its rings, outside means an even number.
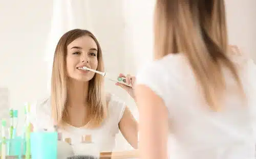
[[[97,70],[88,68],[88,67],[86,67],[86,66],[83,66],[82,69],[83,69],[83,70],[92,71],[92,72],[95,72],[95,73],[98,73],[98,74],[101,74],[101,75],[103,75],[105,78],[108,78],[108,79],[111,80],[111,81],[118,82],[118,83],[124,84],[124,85],[126,85],[126,86],[132,87],[131,84],[127,84],[127,83],[126,83],[125,77],[120,77],[120,76],[116,77],[116,76],[113,76],[113,75],[109,74],[108,72],[100,72],[100,71],[97,71]]]

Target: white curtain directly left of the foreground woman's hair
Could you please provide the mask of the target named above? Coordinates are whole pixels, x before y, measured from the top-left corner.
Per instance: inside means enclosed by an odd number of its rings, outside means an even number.
[[[153,57],[153,11],[155,0],[124,0],[127,36],[137,70]]]

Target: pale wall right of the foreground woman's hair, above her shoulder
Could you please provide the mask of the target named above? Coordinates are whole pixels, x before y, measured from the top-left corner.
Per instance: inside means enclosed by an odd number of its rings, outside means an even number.
[[[229,40],[256,60],[256,1],[226,0]]]

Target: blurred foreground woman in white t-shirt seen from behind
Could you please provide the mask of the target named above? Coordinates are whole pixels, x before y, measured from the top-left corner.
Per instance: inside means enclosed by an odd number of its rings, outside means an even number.
[[[136,76],[141,158],[254,158],[255,66],[228,45],[224,0],[157,0],[154,32]]]

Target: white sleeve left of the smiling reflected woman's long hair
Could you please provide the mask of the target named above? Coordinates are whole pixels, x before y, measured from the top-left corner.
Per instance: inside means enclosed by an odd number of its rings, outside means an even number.
[[[52,127],[50,98],[37,100],[31,105],[30,121],[35,130]]]

